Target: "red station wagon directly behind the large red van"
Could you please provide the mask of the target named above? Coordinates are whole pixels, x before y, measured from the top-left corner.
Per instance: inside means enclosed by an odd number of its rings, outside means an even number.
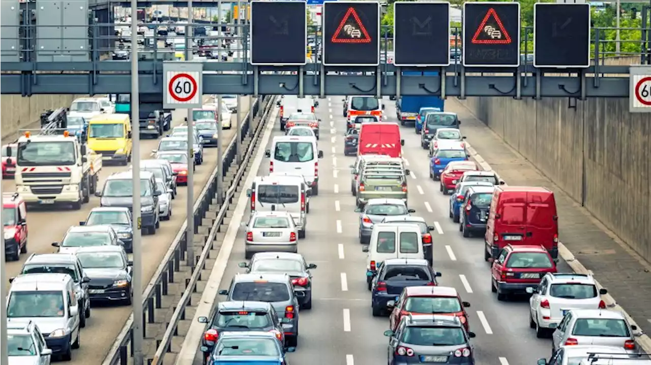
[[[547,249],[535,245],[506,245],[491,268],[491,290],[497,300],[537,288],[546,273],[555,273],[556,263]]]

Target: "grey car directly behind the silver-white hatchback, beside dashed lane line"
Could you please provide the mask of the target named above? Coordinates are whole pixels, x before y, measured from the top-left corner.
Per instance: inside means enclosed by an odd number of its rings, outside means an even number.
[[[262,252],[251,258],[251,263],[240,262],[240,268],[247,273],[287,273],[292,279],[294,292],[304,292],[298,297],[301,309],[312,308],[312,273],[316,264],[307,264],[303,255],[288,252]]]

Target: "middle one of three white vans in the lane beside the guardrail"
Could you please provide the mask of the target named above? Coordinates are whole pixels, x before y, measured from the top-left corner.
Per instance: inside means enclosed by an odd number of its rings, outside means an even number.
[[[271,149],[265,151],[271,158],[269,172],[300,173],[312,188],[312,195],[319,194],[319,158],[323,151],[316,147],[316,138],[307,136],[275,136]]]

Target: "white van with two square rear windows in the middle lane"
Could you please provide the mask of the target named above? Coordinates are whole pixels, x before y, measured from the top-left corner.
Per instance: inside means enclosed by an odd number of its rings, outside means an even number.
[[[378,273],[378,266],[384,260],[389,258],[425,258],[421,229],[415,224],[378,223],[373,225],[369,242],[370,244],[362,249],[368,253],[368,290],[370,290],[373,276]]]

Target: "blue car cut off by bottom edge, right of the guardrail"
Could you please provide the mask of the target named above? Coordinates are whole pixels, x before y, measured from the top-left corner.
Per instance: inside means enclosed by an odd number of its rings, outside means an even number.
[[[207,351],[208,347],[201,346],[201,351],[204,350]],[[283,365],[287,363],[285,352],[294,351],[296,347],[289,347],[284,351],[281,342],[271,332],[223,332],[205,363],[207,365]]]

